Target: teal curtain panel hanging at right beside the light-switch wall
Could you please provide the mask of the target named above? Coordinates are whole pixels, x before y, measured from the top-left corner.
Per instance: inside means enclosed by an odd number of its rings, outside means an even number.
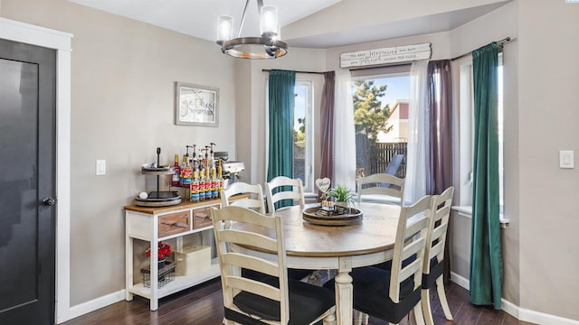
[[[498,45],[472,52],[474,159],[470,302],[500,309],[503,265],[498,198]]]

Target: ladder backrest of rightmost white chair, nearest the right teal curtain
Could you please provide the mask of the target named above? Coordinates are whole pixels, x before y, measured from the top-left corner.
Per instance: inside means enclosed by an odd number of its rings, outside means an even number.
[[[444,245],[446,245],[446,232],[448,231],[449,218],[451,216],[453,194],[454,188],[451,186],[440,195],[432,197],[432,218],[426,235],[423,274],[431,273],[431,260],[434,256],[436,256],[439,264],[444,258]]]

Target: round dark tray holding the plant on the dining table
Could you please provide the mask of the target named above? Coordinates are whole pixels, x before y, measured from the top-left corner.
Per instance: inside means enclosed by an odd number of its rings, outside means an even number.
[[[319,226],[350,226],[362,223],[362,211],[355,208],[336,207],[325,209],[314,207],[305,209],[302,218]]]

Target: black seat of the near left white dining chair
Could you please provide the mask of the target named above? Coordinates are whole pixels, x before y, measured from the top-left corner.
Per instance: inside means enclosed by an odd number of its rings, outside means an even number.
[[[275,281],[265,282],[278,286]],[[316,285],[289,280],[289,324],[304,325],[316,320],[336,304],[334,292]],[[263,320],[280,320],[280,302],[261,297],[251,292],[240,292],[233,303],[242,311]],[[235,320],[242,324],[243,320]]]

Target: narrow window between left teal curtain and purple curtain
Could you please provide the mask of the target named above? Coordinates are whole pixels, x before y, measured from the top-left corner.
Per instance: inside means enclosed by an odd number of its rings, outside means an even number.
[[[314,191],[313,177],[313,84],[296,80],[293,123],[293,177],[299,178],[305,192]]]

